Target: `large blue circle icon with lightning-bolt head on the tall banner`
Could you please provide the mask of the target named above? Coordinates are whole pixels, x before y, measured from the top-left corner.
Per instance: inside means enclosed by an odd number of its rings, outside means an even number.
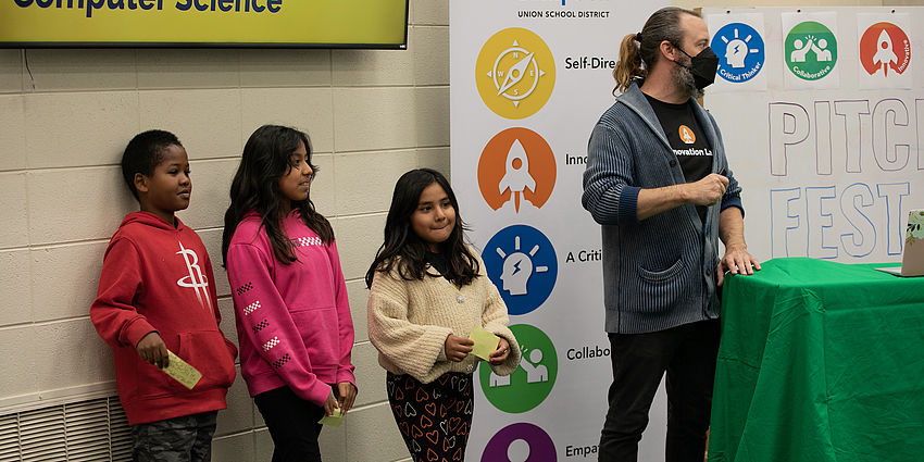
[[[555,286],[555,249],[532,226],[513,225],[498,232],[485,246],[482,260],[510,314],[539,308]]]

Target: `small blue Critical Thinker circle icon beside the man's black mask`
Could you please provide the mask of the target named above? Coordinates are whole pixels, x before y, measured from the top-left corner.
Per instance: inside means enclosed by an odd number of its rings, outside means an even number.
[[[712,37],[710,47],[719,57],[716,73],[733,84],[748,82],[763,68],[763,38],[745,23],[724,25]]]

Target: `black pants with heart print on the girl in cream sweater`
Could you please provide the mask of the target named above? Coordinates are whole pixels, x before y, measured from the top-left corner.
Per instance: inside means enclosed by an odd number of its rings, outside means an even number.
[[[429,384],[385,377],[388,402],[414,462],[462,462],[472,428],[472,374],[450,372]]]

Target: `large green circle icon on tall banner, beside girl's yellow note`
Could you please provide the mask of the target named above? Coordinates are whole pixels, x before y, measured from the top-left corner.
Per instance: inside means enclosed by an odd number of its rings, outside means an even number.
[[[510,329],[520,344],[520,366],[513,374],[503,377],[495,375],[490,366],[482,363],[478,378],[485,397],[495,408],[519,414],[541,404],[552,391],[559,372],[559,357],[552,340],[537,327],[517,324]]]

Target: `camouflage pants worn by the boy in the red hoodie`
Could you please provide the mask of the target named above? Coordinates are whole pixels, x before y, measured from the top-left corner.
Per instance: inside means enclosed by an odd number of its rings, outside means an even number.
[[[217,411],[132,427],[135,462],[209,462]]]

